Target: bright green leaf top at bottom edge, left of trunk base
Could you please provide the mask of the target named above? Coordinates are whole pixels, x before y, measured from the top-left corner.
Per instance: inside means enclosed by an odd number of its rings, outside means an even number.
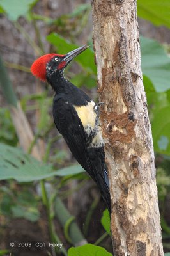
[[[93,244],[85,244],[79,247],[72,247],[68,250],[68,256],[112,256],[104,248]]]

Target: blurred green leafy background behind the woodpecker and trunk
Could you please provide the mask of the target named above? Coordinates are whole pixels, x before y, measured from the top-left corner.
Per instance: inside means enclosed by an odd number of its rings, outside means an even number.
[[[170,255],[170,2],[138,0],[137,12],[164,252]],[[88,0],[0,0],[0,255],[111,255],[105,204],[54,127],[52,90],[29,69],[42,54],[88,44],[65,75],[97,101],[92,30]],[[22,122],[16,128],[20,119],[13,117],[17,102],[33,132],[25,148],[17,132],[22,140],[27,131]]]

